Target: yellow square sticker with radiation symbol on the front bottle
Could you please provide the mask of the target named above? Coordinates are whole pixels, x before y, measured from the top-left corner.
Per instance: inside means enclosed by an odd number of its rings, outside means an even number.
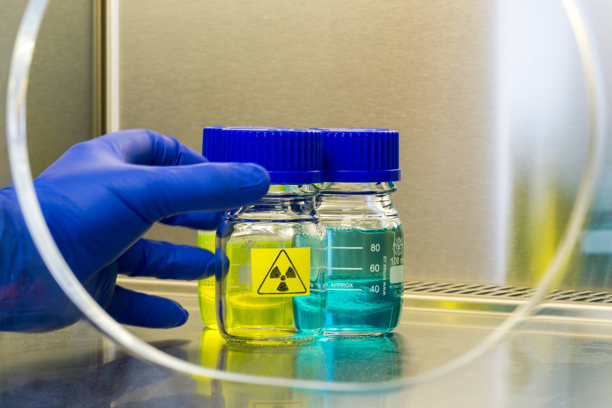
[[[310,248],[253,248],[253,296],[310,295]]]

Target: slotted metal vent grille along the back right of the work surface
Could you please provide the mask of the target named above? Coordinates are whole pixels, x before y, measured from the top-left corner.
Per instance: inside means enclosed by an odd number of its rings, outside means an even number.
[[[414,281],[405,283],[404,291],[435,293],[442,295],[448,294],[521,298],[531,296],[535,292],[535,289],[533,287],[518,286]],[[612,303],[612,292],[556,290],[550,292],[550,294],[545,297],[545,300]]]

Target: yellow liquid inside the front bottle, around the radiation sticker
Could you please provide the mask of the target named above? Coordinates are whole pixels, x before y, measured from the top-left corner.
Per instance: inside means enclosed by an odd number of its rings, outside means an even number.
[[[253,297],[252,248],[291,248],[291,240],[245,237],[228,242],[226,255],[230,259],[230,270],[225,295],[228,333],[241,338],[275,337],[285,331],[289,335],[295,331],[293,297]],[[269,341],[264,343],[270,344]]]

